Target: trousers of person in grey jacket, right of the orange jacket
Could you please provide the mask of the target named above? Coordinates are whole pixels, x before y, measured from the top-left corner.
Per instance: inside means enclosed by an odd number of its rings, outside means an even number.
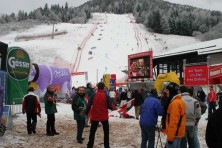
[[[187,148],[187,143],[189,148],[196,148],[194,147],[194,126],[186,126],[186,133],[181,139],[180,148]]]

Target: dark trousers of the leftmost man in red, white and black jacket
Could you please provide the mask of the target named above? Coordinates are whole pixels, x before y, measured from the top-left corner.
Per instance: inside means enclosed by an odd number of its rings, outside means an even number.
[[[27,131],[28,133],[35,132],[36,124],[37,124],[37,114],[36,113],[26,113],[27,117]]]

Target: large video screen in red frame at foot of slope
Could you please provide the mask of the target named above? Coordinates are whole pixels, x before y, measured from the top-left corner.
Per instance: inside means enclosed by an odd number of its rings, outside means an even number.
[[[153,51],[128,55],[128,79],[153,78]]]

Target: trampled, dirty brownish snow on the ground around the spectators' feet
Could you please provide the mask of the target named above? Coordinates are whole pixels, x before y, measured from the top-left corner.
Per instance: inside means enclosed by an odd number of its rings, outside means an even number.
[[[89,128],[84,129],[83,137],[84,143],[78,144],[76,139],[77,125],[73,119],[73,111],[70,104],[57,103],[58,113],[56,117],[56,130],[60,132],[60,135],[48,137],[46,136],[46,121],[47,117],[42,108],[42,117],[38,118],[37,134],[28,135],[26,131],[26,115],[17,114],[13,120],[13,130],[7,130],[4,137],[0,139],[0,148],[2,147],[56,147],[56,148],[85,148],[88,142]],[[134,107],[129,110],[129,114],[135,116]],[[115,148],[139,148],[141,142],[141,132],[139,126],[139,120],[136,119],[123,119],[115,116],[119,116],[117,111],[110,112],[110,146]],[[114,117],[113,117],[114,115]],[[206,147],[205,143],[205,128],[207,113],[205,113],[199,122],[199,140],[201,148]],[[159,118],[160,121],[160,118]],[[160,124],[160,122],[158,122]],[[166,136],[160,133],[163,143],[166,141]],[[157,140],[158,132],[156,132]],[[157,142],[156,142],[157,143]],[[160,143],[158,144],[160,147]],[[103,147],[103,130],[102,127],[98,127],[95,148]]]

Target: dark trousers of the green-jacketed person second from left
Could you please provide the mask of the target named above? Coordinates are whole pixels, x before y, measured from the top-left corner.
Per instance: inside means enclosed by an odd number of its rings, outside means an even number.
[[[46,124],[47,134],[55,133],[55,114],[47,114],[47,124]]]

